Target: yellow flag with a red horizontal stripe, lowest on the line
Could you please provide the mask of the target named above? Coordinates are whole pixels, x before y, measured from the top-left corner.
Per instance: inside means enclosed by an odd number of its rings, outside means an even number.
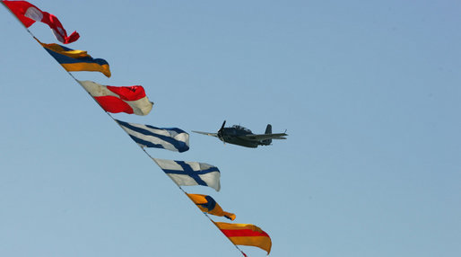
[[[261,228],[251,224],[214,222],[233,244],[259,247],[271,253],[272,241]]]

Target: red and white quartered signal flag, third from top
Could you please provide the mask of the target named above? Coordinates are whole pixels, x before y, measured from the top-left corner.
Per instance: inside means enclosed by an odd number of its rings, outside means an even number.
[[[153,102],[149,101],[141,85],[110,86],[88,80],[77,82],[100,103],[104,111],[147,115],[152,110]]]

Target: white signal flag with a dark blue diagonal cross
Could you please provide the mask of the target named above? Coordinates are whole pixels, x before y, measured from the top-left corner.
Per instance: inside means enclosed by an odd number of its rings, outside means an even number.
[[[210,164],[152,158],[178,186],[207,186],[220,191],[221,173]]]

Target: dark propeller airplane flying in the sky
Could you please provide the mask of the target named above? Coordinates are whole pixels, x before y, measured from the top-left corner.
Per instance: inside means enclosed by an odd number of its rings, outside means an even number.
[[[226,143],[237,145],[237,146],[246,146],[251,148],[256,148],[257,146],[270,146],[272,139],[286,139],[285,136],[288,136],[285,133],[272,134],[271,124],[267,124],[265,128],[265,134],[253,134],[248,128],[243,128],[239,125],[234,125],[229,128],[224,128],[226,125],[226,120],[222,122],[221,128],[217,133],[201,132],[201,131],[192,131],[198,134],[203,134],[206,136],[218,137],[224,145]],[[286,131],[285,131],[286,132]]]

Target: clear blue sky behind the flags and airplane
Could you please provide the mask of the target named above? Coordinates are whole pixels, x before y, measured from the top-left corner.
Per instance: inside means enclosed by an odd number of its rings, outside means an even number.
[[[144,86],[152,112],[119,120],[288,129],[257,149],[191,134],[187,153],[149,150],[218,166],[222,191],[185,189],[263,228],[271,256],[461,254],[459,1],[31,3],[108,60],[111,78],[78,79]],[[0,256],[239,256],[0,9]]]

